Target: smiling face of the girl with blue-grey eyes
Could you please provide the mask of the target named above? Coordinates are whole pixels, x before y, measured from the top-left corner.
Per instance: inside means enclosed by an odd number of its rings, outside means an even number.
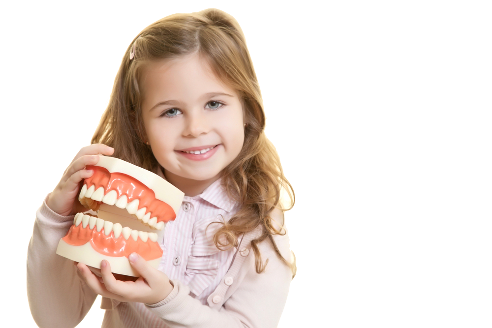
[[[187,196],[201,193],[243,148],[238,95],[198,55],[153,62],[142,86],[147,140],[166,179]]]

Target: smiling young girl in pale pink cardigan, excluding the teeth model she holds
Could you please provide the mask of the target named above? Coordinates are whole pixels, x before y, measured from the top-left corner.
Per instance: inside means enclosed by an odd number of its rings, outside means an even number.
[[[282,211],[293,207],[294,193],[265,120],[234,17],[206,9],[142,30],[123,56],[91,145],[36,211],[26,263],[34,322],[75,327],[101,295],[101,327],[277,327],[296,272]],[[112,274],[105,260],[96,269],[56,255],[74,214],[87,211],[77,197],[97,154],[143,167],[185,193],[159,241],[158,270],[129,256],[138,279]]]

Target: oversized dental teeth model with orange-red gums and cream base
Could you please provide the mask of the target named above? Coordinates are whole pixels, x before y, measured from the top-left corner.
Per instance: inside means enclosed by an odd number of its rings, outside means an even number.
[[[176,218],[184,193],[118,158],[99,156],[97,165],[86,169],[94,173],[84,180],[79,201],[97,217],[77,213],[57,254],[93,268],[107,260],[113,273],[138,277],[128,261],[136,252],[157,268],[165,224]]]

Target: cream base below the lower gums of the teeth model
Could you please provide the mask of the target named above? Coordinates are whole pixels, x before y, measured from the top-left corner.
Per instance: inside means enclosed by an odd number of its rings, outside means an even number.
[[[84,263],[89,267],[98,269],[101,268],[101,261],[107,260],[113,273],[140,277],[140,274],[131,266],[127,257],[103,255],[92,248],[90,241],[82,246],[73,246],[67,244],[63,239],[60,239],[57,254],[72,261]],[[150,264],[151,267],[157,269],[160,264],[160,258],[147,261],[147,263]]]

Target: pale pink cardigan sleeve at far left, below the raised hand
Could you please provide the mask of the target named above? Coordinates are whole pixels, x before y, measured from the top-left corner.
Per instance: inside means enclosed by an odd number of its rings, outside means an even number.
[[[46,200],[36,211],[26,259],[26,289],[32,319],[40,328],[75,327],[97,295],[85,284],[73,261],[58,254],[58,242],[73,224],[72,216],[52,211]]]

